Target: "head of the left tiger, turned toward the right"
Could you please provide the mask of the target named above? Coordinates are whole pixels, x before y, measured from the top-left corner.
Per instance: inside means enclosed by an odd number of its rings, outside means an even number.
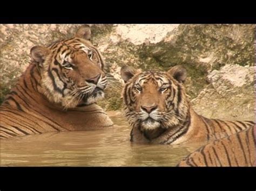
[[[90,26],[83,25],[72,38],[31,48],[43,94],[64,109],[89,105],[104,97],[106,66],[90,39]]]

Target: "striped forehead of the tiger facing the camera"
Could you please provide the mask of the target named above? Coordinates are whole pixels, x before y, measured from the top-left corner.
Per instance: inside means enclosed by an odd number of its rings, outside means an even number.
[[[145,71],[138,75],[136,83],[143,85],[145,83],[156,83],[161,86],[166,83],[170,83],[169,77],[162,71]]]

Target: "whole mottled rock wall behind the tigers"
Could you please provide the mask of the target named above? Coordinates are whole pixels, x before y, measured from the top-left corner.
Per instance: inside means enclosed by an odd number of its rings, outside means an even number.
[[[1,100],[29,65],[30,48],[71,37],[80,25],[0,25]],[[166,69],[183,64],[194,109],[212,118],[254,120],[254,26],[184,24],[91,24],[109,72],[119,82],[120,68]],[[255,48],[256,49],[256,48]],[[256,69],[256,68],[255,68]],[[256,88],[256,86],[255,86]],[[99,103],[120,109],[120,90],[109,89]],[[256,111],[256,109],[255,109]]]

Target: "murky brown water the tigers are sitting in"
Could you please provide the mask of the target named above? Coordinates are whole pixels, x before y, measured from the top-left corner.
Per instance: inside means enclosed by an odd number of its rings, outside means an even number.
[[[176,166],[197,146],[136,144],[120,112],[114,127],[1,140],[1,166]]]

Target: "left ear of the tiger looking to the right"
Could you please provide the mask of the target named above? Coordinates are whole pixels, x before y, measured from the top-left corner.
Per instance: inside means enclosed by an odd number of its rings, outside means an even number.
[[[50,50],[44,46],[34,46],[30,49],[30,54],[33,60],[42,65]]]

